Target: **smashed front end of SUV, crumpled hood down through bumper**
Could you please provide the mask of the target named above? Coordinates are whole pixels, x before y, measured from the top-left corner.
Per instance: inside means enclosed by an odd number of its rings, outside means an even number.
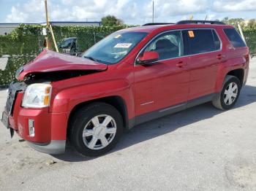
[[[51,113],[50,107],[29,108],[23,107],[23,96],[29,85],[35,83],[56,82],[73,77],[93,74],[107,69],[100,63],[91,63],[82,58],[55,52],[45,52],[39,55],[33,62],[18,69],[16,78],[18,82],[12,82],[8,88],[7,103],[2,113],[1,122],[10,129],[11,137],[14,132],[40,152],[60,154],[65,151],[66,134],[56,132],[56,126],[67,128],[69,113]],[[50,61],[59,61],[54,67]],[[80,61],[80,63],[78,63]],[[48,63],[48,67],[42,66]],[[72,67],[71,67],[72,66]]]

